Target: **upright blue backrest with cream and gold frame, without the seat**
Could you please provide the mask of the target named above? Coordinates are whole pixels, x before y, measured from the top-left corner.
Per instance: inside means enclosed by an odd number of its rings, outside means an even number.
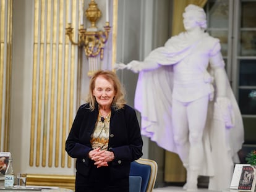
[[[151,192],[155,186],[158,165],[151,159],[138,159],[130,164],[130,176],[142,177],[141,192]]]

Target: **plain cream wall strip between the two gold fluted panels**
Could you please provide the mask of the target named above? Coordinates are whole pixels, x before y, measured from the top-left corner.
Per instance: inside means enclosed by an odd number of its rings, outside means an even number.
[[[14,1],[10,151],[15,172],[29,170],[33,1]]]

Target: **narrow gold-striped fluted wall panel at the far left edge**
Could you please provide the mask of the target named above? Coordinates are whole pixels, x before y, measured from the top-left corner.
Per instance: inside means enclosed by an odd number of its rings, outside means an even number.
[[[9,151],[12,73],[12,0],[0,1],[0,151]]]

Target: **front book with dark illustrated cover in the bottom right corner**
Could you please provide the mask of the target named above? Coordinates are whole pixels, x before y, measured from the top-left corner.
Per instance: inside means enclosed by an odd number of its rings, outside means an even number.
[[[242,166],[241,177],[238,184],[238,191],[254,191],[255,190],[256,170],[253,165]]]

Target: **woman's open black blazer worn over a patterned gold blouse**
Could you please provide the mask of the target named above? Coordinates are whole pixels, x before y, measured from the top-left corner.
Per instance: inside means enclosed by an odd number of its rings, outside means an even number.
[[[88,176],[93,161],[88,158],[92,150],[91,135],[98,119],[98,106],[94,111],[88,104],[79,107],[69,136],[66,140],[66,151],[70,157],[77,158],[77,172]],[[109,162],[111,179],[128,177],[130,162],[142,156],[142,136],[135,110],[127,105],[123,109],[111,109],[109,125],[108,150],[114,152],[114,160]]]

